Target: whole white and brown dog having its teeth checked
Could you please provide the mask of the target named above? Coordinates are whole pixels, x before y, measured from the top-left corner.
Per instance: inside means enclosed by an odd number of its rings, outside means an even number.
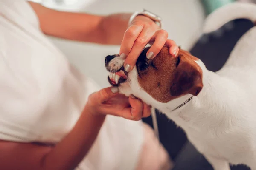
[[[231,3],[217,9],[207,17],[204,32],[238,18],[255,22],[256,5]],[[119,54],[105,57],[110,84],[166,114],[214,170],[230,170],[230,164],[256,170],[256,27],[240,38],[215,73],[188,51],[180,49],[172,57],[163,47],[148,60],[148,49],[129,73]]]

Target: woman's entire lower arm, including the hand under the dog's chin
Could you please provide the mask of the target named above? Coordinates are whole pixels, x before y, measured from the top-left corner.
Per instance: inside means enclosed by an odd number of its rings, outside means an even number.
[[[106,114],[140,120],[150,115],[150,106],[119,94],[117,87],[104,88],[89,96],[76,125],[53,147],[0,140],[0,169],[76,169],[98,136]]]

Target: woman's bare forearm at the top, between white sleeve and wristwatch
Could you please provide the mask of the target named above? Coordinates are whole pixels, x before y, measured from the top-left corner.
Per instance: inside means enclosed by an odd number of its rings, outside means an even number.
[[[69,40],[119,45],[131,14],[111,16],[55,11],[29,2],[44,34]]]

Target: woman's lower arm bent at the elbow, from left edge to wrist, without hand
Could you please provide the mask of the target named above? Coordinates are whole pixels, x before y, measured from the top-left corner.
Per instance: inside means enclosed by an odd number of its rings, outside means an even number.
[[[0,141],[0,169],[74,170],[90,150],[104,119],[82,113],[73,130],[54,147]]]

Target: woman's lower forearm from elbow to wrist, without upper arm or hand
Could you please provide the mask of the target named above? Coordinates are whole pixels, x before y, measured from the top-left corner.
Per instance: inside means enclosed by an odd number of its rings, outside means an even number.
[[[105,116],[82,114],[71,132],[43,159],[43,169],[73,170],[90,150]]]

